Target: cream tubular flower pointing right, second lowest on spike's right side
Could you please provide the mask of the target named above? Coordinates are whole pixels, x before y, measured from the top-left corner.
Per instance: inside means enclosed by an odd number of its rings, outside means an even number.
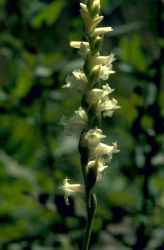
[[[102,155],[106,155],[110,161],[112,159],[112,155],[117,152],[119,152],[119,150],[117,149],[116,142],[113,143],[113,146],[109,146],[104,143],[99,143],[96,147],[90,150],[90,157],[99,157]]]

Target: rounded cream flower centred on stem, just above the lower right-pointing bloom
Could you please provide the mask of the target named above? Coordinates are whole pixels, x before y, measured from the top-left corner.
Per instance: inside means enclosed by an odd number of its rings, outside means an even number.
[[[90,129],[83,137],[82,144],[88,146],[89,149],[96,147],[106,136],[102,134],[101,129]]]

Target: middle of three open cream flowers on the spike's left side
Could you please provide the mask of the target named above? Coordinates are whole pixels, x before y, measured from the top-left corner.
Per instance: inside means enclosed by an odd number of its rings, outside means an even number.
[[[64,131],[66,135],[71,135],[72,129],[79,128],[84,129],[88,121],[87,114],[85,110],[80,107],[78,110],[74,111],[74,115],[70,119],[63,117],[60,124],[64,126]]]

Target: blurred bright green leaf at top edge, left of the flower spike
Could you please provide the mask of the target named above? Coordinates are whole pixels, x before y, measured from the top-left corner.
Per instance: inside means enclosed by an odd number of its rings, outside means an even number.
[[[33,28],[40,28],[43,23],[46,23],[47,26],[54,24],[60,16],[64,4],[64,0],[57,0],[48,4],[32,19]]]

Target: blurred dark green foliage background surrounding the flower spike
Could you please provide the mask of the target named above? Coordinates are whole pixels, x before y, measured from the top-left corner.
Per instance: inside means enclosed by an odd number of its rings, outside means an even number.
[[[83,36],[79,0],[0,0],[0,249],[78,250],[85,204],[59,189],[82,181],[78,133],[59,121],[79,107],[62,89],[82,66],[70,40]],[[92,250],[162,250],[164,244],[164,39],[162,0],[102,0],[102,54],[115,53],[108,81],[122,106],[106,118],[118,141],[102,182]]]

